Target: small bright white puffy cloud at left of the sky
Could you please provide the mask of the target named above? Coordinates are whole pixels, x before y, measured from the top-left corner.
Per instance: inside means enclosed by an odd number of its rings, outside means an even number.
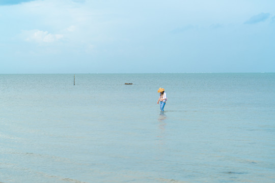
[[[61,34],[50,34],[47,31],[40,31],[35,29],[31,31],[22,31],[21,37],[24,41],[27,42],[52,43],[59,41],[64,36]]]

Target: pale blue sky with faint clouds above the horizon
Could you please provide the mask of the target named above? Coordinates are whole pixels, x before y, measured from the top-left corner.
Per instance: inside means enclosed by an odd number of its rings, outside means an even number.
[[[0,0],[0,74],[275,72],[273,0]]]

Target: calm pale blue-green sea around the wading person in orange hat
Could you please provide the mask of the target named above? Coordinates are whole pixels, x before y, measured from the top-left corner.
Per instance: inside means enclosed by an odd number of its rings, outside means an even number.
[[[0,74],[0,182],[273,183],[275,73]]]

